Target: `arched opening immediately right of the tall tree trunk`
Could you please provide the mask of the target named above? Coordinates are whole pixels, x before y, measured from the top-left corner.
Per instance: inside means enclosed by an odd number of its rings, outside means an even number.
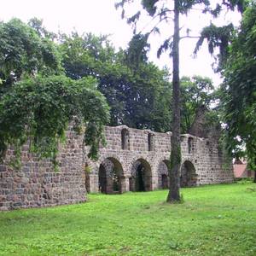
[[[181,166],[180,186],[182,188],[195,187],[196,180],[195,166],[189,160],[184,161]]]

